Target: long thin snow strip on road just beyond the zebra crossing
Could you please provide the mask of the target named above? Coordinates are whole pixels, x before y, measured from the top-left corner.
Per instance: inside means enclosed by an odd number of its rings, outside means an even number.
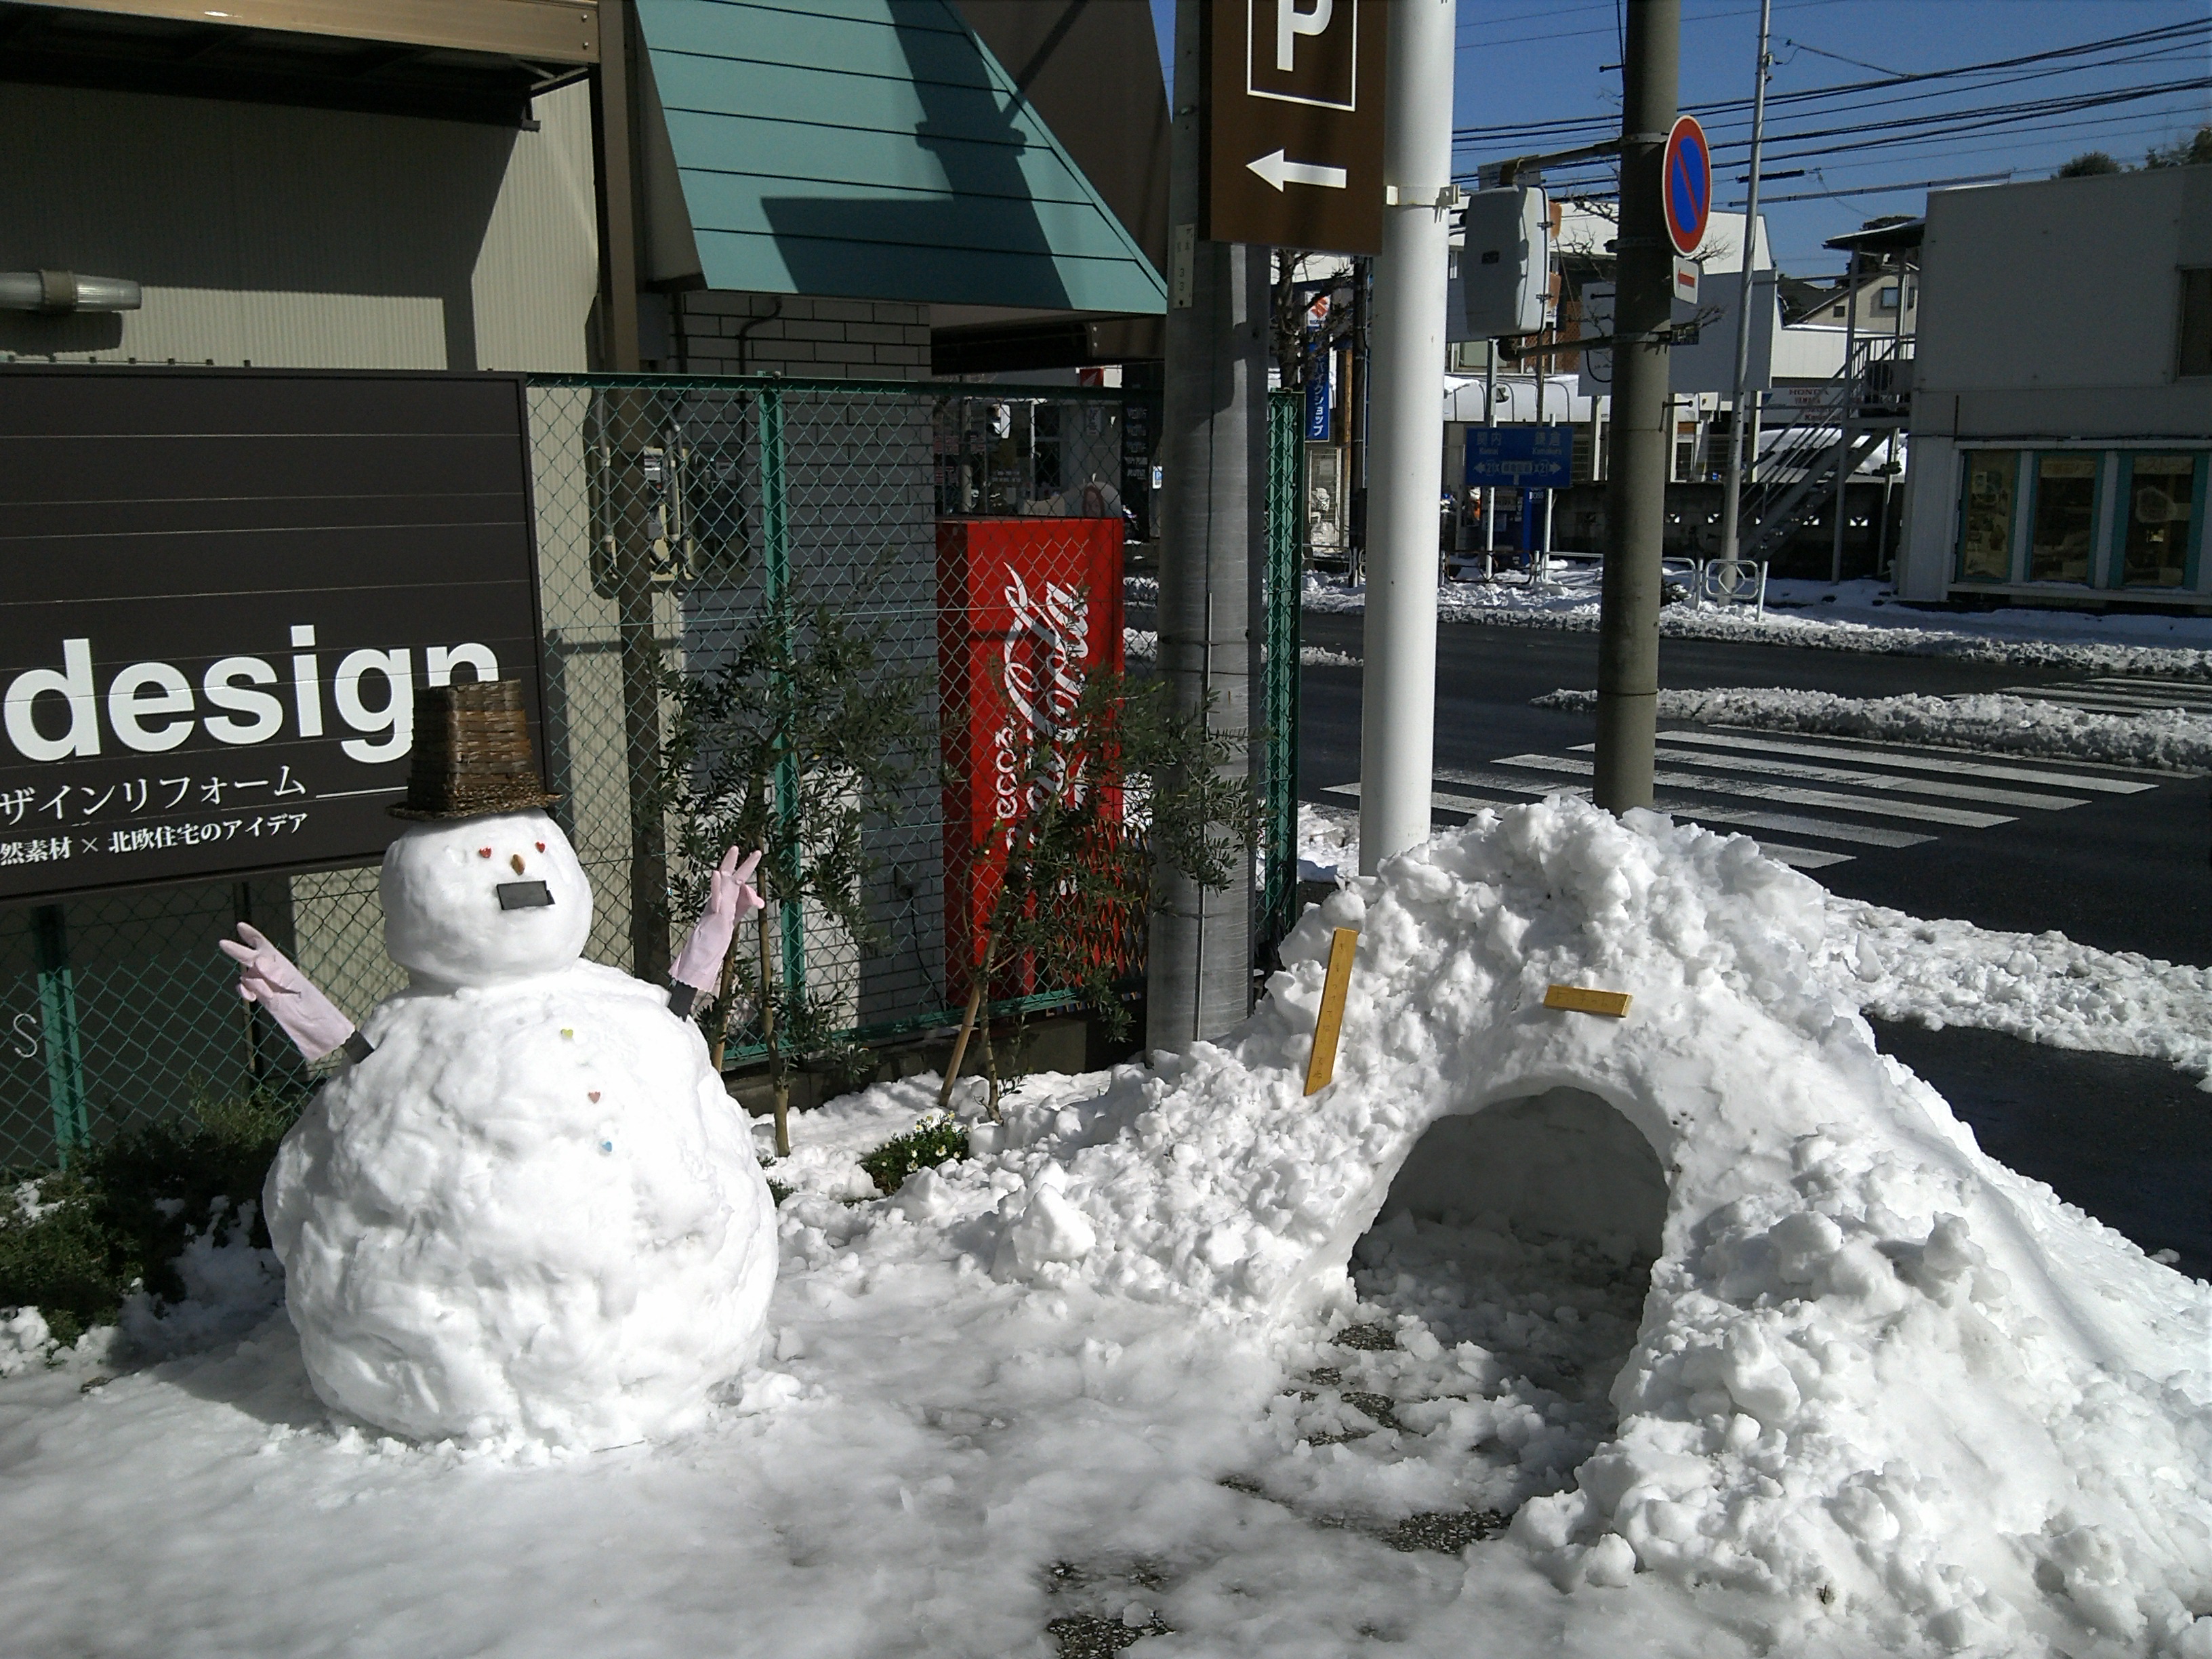
[[[1555,690],[1533,699],[1533,706],[1579,714],[1597,708],[1597,692]],[[1838,697],[1778,686],[1725,686],[1663,690],[1659,717],[1701,726],[1754,726],[1765,732],[1940,743],[2048,761],[2106,761],[2170,772],[2212,768],[2212,717],[2185,708],[2110,714],[2002,692]]]

